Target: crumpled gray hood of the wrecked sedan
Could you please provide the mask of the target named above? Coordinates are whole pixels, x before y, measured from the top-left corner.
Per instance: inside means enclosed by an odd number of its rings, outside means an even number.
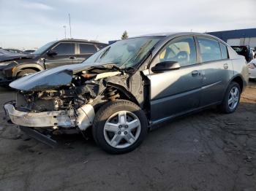
[[[89,69],[92,66],[96,66],[96,64],[78,63],[39,71],[15,80],[10,83],[10,87],[24,91],[50,90],[62,85],[68,85],[72,81],[73,74]]]

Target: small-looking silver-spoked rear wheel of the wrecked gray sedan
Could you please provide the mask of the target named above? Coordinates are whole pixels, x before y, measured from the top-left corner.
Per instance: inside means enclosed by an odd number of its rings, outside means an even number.
[[[225,98],[222,101],[222,104],[219,106],[220,111],[226,114],[235,112],[240,101],[240,96],[240,86],[236,82],[231,82],[227,87]]]

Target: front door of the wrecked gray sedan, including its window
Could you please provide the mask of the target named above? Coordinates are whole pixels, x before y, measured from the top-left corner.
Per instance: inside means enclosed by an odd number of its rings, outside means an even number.
[[[180,37],[169,42],[151,64],[177,61],[181,68],[162,73],[149,69],[151,120],[160,122],[196,109],[200,104],[202,76],[197,64],[195,39]]]

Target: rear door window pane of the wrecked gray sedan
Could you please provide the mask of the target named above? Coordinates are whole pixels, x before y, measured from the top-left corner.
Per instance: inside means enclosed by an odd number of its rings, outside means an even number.
[[[202,62],[218,61],[222,59],[219,42],[214,39],[197,37]]]

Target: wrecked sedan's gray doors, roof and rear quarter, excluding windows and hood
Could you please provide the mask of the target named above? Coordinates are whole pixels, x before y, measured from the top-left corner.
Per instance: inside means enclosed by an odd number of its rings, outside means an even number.
[[[173,33],[155,34],[166,35],[156,44],[152,51],[152,58],[144,74],[150,79],[150,106],[151,123],[155,124],[182,114],[195,112],[208,106],[221,104],[231,81],[236,81],[241,90],[246,86],[249,78],[246,60],[238,55],[228,44],[215,36],[199,33]],[[174,71],[154,73],[151,68],[159,60],[157,55],[165,44],[173,39],[193,36],[203,36],[215,39],[227,46],[229,58],[225,60],[209,61],[202,63],[199,46],[197,47],[197,63],[184,66]],[[225,65],[228,67],[225,69]],[[197,76],[192,76],[192,71],[198,71]],[[161,111],[161,112],[160,112]]]

